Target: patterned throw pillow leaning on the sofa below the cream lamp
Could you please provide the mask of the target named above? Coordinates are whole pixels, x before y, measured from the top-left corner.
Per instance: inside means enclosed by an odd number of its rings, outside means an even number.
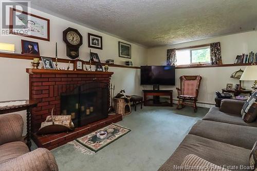
[[[242,118],[245,122],[251,123],[257,117],[257,90],[245,102],[241,111]]]

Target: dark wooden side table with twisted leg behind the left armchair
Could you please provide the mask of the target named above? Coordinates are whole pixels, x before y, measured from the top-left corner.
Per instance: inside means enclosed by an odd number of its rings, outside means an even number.
[[[11,101],[26,101],[25,104],[21,105],[11,105],[11,106],[4,106],[0,107],[0,114],[7,114],[12,112],[18,112],[18,111],[27,111],[27,134],[25,139],[27,140],[27,146],[31,147],[31,109],[36,107],[38,105],[38,102],[35,100],[11,100]],[[11,101],[1,101],[2,102],[11,102]]]

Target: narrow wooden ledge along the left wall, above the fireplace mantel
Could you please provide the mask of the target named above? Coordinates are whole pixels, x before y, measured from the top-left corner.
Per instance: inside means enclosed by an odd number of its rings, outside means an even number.
[[[19,54],[19,53],[4,53],[0,52],[0,57],[6,57],[6,58],[15,58],[15,59],[28,59],[28,60],[33,60],[33,58],[40,58],[45,57],[45,56],[32,56],[32,55],[24,55],[24,54]],[[55,61],[55,57],[50,57],[52,58],[52,61]],[[62,63],[69,63],[72,59],[63,59],[63,58],[58,58],[58,62]],[[86,61],[86,64],[89,65],[89,62]],[[94,63],[91,63],[91,65],[95,65]],[[118,67],[118,68],[132,68],[132,69],[140,69],[140,67],[131,67],[131,66],[123,66],[123,65],[117,65],[117,64],[109,64],[109,63],[102,63],[102,65],[108,65],[109,67]]]

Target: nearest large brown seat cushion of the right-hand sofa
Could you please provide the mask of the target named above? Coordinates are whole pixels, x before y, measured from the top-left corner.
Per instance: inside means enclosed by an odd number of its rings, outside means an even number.
[[[249,167],[250,149],[189,134],[172,156],[159,168],[159,171],[179,170],[183,159],[189,154],[199,156],[227,169],[231,168],[226,166]]]

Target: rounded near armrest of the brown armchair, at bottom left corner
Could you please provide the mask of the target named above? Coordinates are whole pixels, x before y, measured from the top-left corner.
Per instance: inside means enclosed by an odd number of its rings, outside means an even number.
[[[0,164],[1,170],[58,171],[56,159],[46,148],[37,148],[15,159]]]

